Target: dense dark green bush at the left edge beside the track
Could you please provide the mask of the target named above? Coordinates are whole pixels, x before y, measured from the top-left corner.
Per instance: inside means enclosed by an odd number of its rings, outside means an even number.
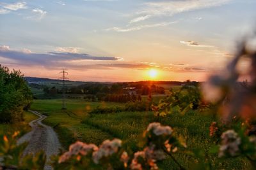
[[[23,109],[28,110],[31,91],[20,71],[0,65],[0,122],[20,122]]]

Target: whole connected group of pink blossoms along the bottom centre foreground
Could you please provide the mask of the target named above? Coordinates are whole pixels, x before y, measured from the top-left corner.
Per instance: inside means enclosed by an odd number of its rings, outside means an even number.
[[[70,145],[68,152],[63,153],[58,159],[58,164],[70,161],[77,166],[78,160],[83,166],[100,166],[111,169],[115,168],[129,168],[129,169],[158,169],[157,162],[166,158],[166,153],[176,152],[179,141],[172,136],[172,128],[169,126],[162,126],[159,123],[149,124],[147,131],[145,131],[145,148],[134,153],[132,159],[129,158],[127,152],[122,150],[122,141],[120,139],[106,140],[99,147],[94,144],[86,144],[80,141]],[[87,156],[87,157],[85,157]],[[84,159],[86,158],[86,159]],[[113,159],[112,159],[113,158]],[[116,160],[112,164],[111,160]],[[92,164],[88,163],[92,162]],[[120,164],[122,163],[122,164]],[[65,164],[62,164],[65,166]]]

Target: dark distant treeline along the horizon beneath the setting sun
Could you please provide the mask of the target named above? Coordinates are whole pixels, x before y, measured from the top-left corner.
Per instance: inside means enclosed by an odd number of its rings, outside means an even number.
[[[29,86],[35,89],[43,89],[44,96],[60,97],[63,90],[69,98],[88,99],[90,101],[113,101],[125,103],[127,101],[140,101],[139,96],[148,96],[152,94],[165,94],[164,87],[160,85],[195,85],[196,81],[137,81],[123,83],[97,83],[88,82],[83,85],[62,87],[51,85],[40,85],[38,83],[29,83]],[[171,89],[171,86],[170,86]],[[59,94],[59,95],[58,95]],[[80,95],[80,96],[76,96]],[[135,97],[136,96],[136,99]]]

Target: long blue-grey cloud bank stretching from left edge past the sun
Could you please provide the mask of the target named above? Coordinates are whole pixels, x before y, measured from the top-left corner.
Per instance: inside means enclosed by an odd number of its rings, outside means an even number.
[[[12,50],[9,46],[0,46],[0,62],[2,64],[19,66],[43,66],[48,69],[159,69],[174,72],[203,72],[202,67],[188,64],[159,65],[155,62],[124,62],[118,57],[98,57],[86,53],[49,52],[34,53],[28,49]]]

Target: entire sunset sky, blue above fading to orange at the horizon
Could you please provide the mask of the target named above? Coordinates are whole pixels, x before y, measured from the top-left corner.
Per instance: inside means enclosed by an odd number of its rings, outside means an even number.
[[[255,6],[255,0],[1,0],[0,64],[43,78],[66,69],[79,81],[205,81],[255,28]]]

